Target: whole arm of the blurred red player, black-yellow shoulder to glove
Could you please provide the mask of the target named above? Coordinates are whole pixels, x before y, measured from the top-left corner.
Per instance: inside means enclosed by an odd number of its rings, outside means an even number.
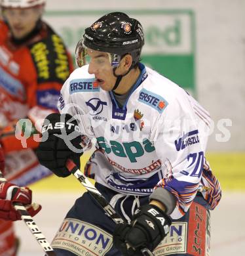
[[[47,49],[48,54],[48,62],[42,62],[42,65],[39,63],[40,58],[36,56],[40,53],[40,45]],[[62,39],[56,34],[29,46],[29,54],[28,72],[35,74],[26,86],[29,111],[24,118],[26,120],[13,120],[1,129],[0,141],[5,153],[21,150],[22,140],[25,140],[25,148],[37,148],[39,139],[35,138],[38,138],[37,135],[41,131],[42,121],[48,114],[58,112],[60,90],[73,71],[71,56]]]

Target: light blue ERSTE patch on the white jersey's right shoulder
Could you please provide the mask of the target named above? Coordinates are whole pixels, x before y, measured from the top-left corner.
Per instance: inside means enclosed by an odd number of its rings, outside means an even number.
[[[168,102],[162,98],[162,96],[145,89],[140,91],[138,100],[144,104],[147,104],[148,106],[151,106],[152,108],[155,108],[155,110],[157,110],[160,114],[164,108],[168,106]]]

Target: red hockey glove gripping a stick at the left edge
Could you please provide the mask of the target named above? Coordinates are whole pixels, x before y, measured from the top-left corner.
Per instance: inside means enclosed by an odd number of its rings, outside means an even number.
[[[0,219],[7,221],[20,220],[20,213],[14,209],[12,203],[20,202],[26,206],[26,209],[33,217],[41,210],[41,205],[37,203],[31,204],[31,190],[27,187],[20,188],[9,182],[0,184]]]

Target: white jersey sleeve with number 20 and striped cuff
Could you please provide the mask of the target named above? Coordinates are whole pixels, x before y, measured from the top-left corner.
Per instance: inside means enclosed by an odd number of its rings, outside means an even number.
[[[199,127],[188,100],[169,104],[156,127],[154,144],[164,177],[155,188],[164,188],[175,196],[173,219],[188,211],[202,177],[207,134]]]

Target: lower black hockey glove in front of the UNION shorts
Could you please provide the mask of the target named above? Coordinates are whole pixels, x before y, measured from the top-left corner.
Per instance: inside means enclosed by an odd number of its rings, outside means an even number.
[[[130,224],[117,224],[113,233],[113,244],[123,255],[142,255],[141,249],[153,251],[168,234],[170,217],[155,205],[138,208]]]

